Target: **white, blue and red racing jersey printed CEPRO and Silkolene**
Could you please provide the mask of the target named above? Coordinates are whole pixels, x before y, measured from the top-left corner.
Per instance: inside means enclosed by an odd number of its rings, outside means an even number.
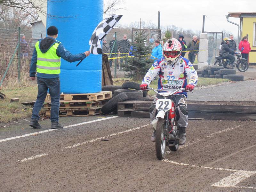
[[[143,78],[142,84],[150,84],[156,77],[158,79],[158,89],[180,89],[187,84],[196,86],[197,73],[188,59],[181,57],[175,64],[168,64],[164,57],[156,60]],[[188,79],[188,83],[187,83]],[[187,97],[187,92],[179,92]]]

